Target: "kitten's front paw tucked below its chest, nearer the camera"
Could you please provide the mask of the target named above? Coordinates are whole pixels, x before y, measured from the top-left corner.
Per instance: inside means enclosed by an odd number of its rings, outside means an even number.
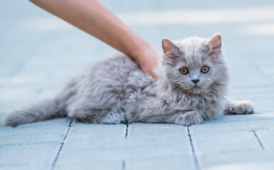
[[[203,119],[197,111],[189,111],[179,115],[178,118],[176,118],[175,123],[179,125],[190,126],[203,123]]]

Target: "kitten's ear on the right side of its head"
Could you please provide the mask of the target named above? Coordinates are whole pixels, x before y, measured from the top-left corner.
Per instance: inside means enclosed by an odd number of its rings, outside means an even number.
[[[218,57],[221,54],[221,35],[217,34],[212,37],[206,45],[207,55]]]

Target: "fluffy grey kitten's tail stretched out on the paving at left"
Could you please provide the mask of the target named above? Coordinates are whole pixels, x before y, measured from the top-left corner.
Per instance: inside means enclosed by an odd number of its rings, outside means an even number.
[[[55,98],[42,101],[20,111],[13,111],[4,118],[4,125],[17,126],[52,118],[60,118],[66,115],[65,102]]]

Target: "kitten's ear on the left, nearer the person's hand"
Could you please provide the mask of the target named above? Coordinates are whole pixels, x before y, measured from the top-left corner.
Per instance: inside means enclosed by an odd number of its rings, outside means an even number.
[[[168,64],[174,64],[176,62],[177,57],[182,54],[182,50],[180,47],[175,45],[171,40],[164,38],[162,40],[163,52],[165,54],[165,61]]]

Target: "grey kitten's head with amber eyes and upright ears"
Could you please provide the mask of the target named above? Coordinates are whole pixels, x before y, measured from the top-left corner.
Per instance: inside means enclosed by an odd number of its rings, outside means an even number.
[[[172,42],[163,39],[161,60],[163,82],[169,89],[202,94],[226,85],[227,68],[221,55],[221,35],[191,37]]]

